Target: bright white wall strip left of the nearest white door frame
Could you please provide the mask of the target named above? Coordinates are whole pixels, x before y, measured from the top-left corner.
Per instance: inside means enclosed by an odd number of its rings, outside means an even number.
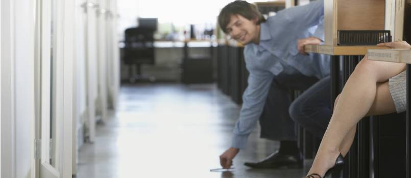
[[[11,75],[14,75],[14,86],[12,86],[14,87],[14,98],[12,100],[14,99],[15,123],[11,127],[14,129],[12,131],[12,135],[14,135],[12,137],[14,139],[14,143],[12,143],[14,154],[12,156],[15,157],[15,163],[11,166],[15,166],[15,177],[30,176],[31,158],[33,157],[31,150],[32,139],[34,138],[32,124],[35,121],[34,10],[33,0],[15,0],[14,7],[12,8],[13,21],[19,23],[6,26],[2,24],[2,29],[3,27],[10,27],[12,33],[14,33],[14,36],[11,36],[11,47],[14,50],[10,57],[14,60],[14,65],[11,67]]]

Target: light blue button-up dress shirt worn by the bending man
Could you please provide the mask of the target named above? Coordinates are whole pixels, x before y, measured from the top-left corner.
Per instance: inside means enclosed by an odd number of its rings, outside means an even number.
[[[317,0],[279,11],[261,23],[259,44],[250,43],[244,48],[250,76],[234,127],[232,147],[245,147],[248,136],[257,125],[274,76],[299,72],[321,79],[329,75],[329,57],[303,55],[297,49],[299,39],[317,37],[324,41],[323,21],[324,2]]]

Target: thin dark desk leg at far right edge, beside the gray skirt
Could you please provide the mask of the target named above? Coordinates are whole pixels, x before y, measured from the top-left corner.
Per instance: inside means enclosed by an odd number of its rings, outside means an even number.
[[[411,178],[411,121],[410,121],[410,88],[409,88],[409,79],[411,77],[410,65],[407,64],[407,112],[406,112],[406,177]]]

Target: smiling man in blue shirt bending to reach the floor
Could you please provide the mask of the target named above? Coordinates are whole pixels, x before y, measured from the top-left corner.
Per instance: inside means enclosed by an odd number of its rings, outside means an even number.
[[[220,12],[219,24],[223,31],[245,45],[244,56],[250,72],[232,145],[220,156],[224,168],[229,168],[232,159],[240,149],[244,149],[258,119],[261,137],[279,140],[280,149],[261,162],[246,165],[302,167],[295,125],[288,114],[288,107],[291,90],[306,90],[329,74],[328,58],[304,52],[304,45],[324,41],[323,7],[323,0],[318,0],[306,6],[279,11],[267,20],[254,5],[245,1],[232,2]],[[320,82],[320,86],[324,84],[327,81]],[[313,86],[318,87],[318,84]],[[319,100],[330,99],[328,96]]]

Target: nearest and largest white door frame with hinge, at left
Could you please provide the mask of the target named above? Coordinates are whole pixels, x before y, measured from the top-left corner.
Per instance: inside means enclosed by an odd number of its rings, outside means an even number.
[[[54,23],[56,44],[53,56],[56,63],[56,154],[55,167],[50,164],[50,48],[51,48],[51,7],[50,1],[42,0],[41,3],[41,161],[39,165],[40,177],[71,177],[72,176],[72,111],[73,111],[73,33],[74,33],[74,2],[55,1],[58,14]]]

